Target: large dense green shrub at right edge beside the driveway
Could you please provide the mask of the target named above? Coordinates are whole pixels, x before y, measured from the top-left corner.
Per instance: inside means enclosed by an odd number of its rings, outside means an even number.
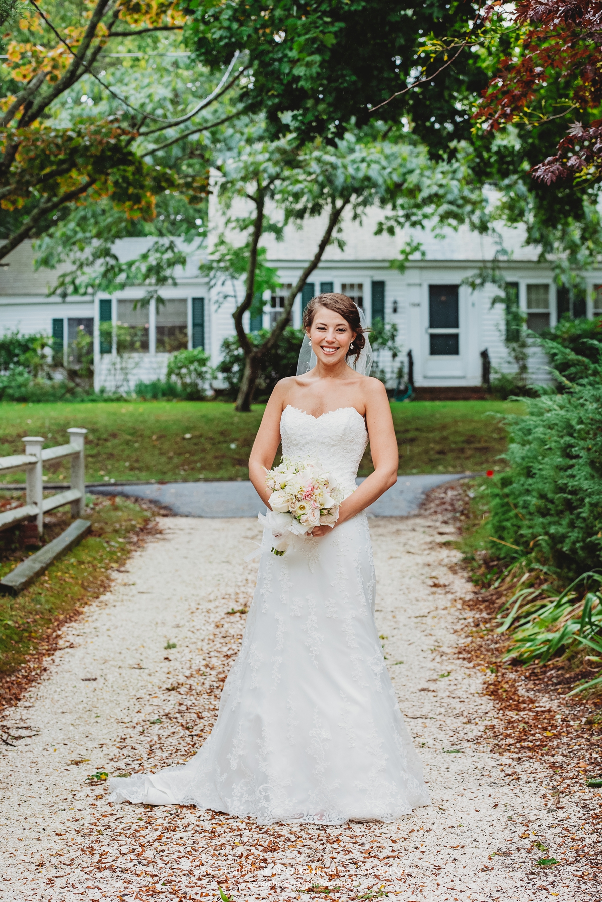
[[[565,393],[505,418],[510,468],[491,486],[490,535],[506,543],[495,556],[531,554],[566,578],[602,566],[602,366],[588,365]]]

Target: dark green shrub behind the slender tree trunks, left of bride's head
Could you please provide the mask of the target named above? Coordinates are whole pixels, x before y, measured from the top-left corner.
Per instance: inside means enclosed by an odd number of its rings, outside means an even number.
[[[267,329],[260,329],[258,332],[251,332],[249,339],[254,345],[261,345],[269,334]],[[303,335],[302,329],[286,327],[280,341],[269,354],[266,354],[262,360],[262,370],[255,388],[256,401],[267,400],[272,394],[276,382],[297,373],[297,361]],[[216,367],[216,373],[220,373],[227,384],[226,396],[234,400],[245,371],[245,354],[238,344],[238,336],[225,338],[221,349],[223,357]]]

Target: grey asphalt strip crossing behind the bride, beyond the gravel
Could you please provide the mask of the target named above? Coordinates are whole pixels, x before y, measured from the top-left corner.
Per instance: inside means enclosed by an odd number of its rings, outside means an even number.
[[[418,474],[400,476],[367,509],[372,517],[409,517],[418,511],[426,492],[441,483],[463,479],[472,474]],[[361,483],[362,478],[357,479]],[[181,517],[255,517],[265,507],[252,483],[142,483],[140,485],[90,486],[88,492],[100,495],[127,495],[147,498],[167,507]]]

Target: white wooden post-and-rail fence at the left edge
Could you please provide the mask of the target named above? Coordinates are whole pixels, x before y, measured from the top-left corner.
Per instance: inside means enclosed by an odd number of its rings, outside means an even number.
[[[27,437],[23,438],[25,445],[24,454],[0,457],[0,474],[24,470],[26,480],[25,503],[20,507],[0,513],[0,529],[13,526],[19,520],[35,517],[38,535],[41,536],[44,528],[44,514],[48,513],[48,511],[54,511],[55,508],[62,507],[63,504],[71,505],[72,517],[82,516],[86,503],[84,445],[88,429],[72,428],[68,429],[67,432],[69,433],[69,445],[45,448],[42,451],[44,438]],[[70,488],[65,492],[57,492],[44,498],[42,464],[61,460],[63,457],[71,458]]]

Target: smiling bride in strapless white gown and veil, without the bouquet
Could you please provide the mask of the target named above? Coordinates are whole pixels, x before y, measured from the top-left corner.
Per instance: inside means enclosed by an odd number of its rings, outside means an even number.
[[[242,648],[208,740],[185,765],[114,778],[111,801],[192,804],[259,824],[392,821],[430,802],[375,626],[365,511],[397,479],[389,402],[362,374],[369,343],[351,299],[319,295],[303,327],[301,372],[276,385],[249,474],[268,505],[265,469],[282,439],[284,456],[319,460],[345,487],[338,521],[282,557],[264,535]],[[375,470],[356,487],[368,439]]]

